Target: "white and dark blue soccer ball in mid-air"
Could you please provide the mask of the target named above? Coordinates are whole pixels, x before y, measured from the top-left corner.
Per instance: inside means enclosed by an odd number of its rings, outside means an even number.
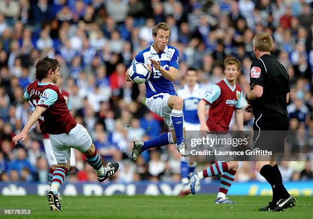
[[[130,79],[134,83],[144,83],[150,77],[150,71],[145,63],[137,63],[130,65],[128,69]]]

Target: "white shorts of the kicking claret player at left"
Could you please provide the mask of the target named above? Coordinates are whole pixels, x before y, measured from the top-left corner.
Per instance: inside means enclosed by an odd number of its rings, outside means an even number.
[[[92,145],[92,138],[81,124],[78,124],[69,134],[50,135],[53,154],[58,163],[68,163],[71,157],[71,148],[85,152]]]

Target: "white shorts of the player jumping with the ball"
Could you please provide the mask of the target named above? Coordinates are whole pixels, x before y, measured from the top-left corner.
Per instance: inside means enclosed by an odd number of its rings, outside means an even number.
[[[166,93],[154,95],[150,98],[146,98],[146,105],[150,111],[161,116],[170,129],[174,129],[171,119],[172,109],[167,105],[167,100],[170,96],[172,95]],[[183,127],[185,127],[185,121]]]

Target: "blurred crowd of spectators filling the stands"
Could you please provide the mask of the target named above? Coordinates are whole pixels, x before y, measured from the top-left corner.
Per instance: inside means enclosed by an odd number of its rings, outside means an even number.
[[[311,0],[0,0],[0,181],[47,182],[38,125],[25,142],[14,147],[11,139],[33,111],[23,93],[35,79],[34,65],[49,56],[59,61],[73,117],[87,128],[106,162],[120,163],[114,181],[180,182],[181,156],[174,145],[146,151],[136,163],[130,159],[133,140],[167,131],[162,118],[145,106],[144,85],[124,80],[161,21],[171,27],[169,44],[180,51],[176,90],[185,84],[188,67],[197,69],[198,82],[208,89],[223,78],[223,59],[235,56],[242,63],[238,83],[248,93],[252,38],[270,33],[272,54],[289,71],[289,129],[302,133],[302,145],[312,146],[312,6]],[[245,130],[252,129],[253,120],[244,113]],[[96,182],[85,157],[75,154],[76,170],[66,181]],[[284,181],[313,177],[312,157],[301,158],[279,164]],[[197,170],[206,165],[198,164]],[[262,179],[253,162],[240,163],[237,181]]]

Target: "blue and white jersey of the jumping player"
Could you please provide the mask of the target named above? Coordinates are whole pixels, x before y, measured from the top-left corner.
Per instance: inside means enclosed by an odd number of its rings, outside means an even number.
[[[150,58],[160,61],[161,67],[168,70],[169,67],[178,69],[178,62],[180,54],[174,47],[167,46],[162,53],[157,53],[154,50],[153,44],[151,47],[139,52],[136,57],[132,60],[131,64],[145,63],[151,64]],[[160,93],[166,93],[175,95],[173,82],[164,78],[159,70],[154,69],[152,66],[152,73],[150,78],[145,82],[146,84],[146,98],[150,98]]]

